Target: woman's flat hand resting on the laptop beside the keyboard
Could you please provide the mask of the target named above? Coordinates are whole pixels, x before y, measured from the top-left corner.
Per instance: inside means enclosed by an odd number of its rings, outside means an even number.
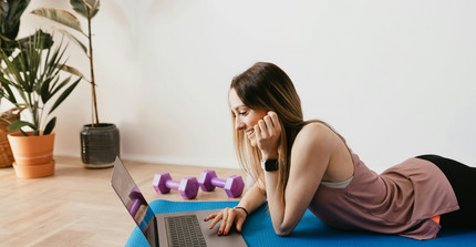
[[[217,225],[221,220],[221,225],[218,229],[218,235],[227,235],[230,231],[231,226],[235,224],[238,231],[241,231],[242,224],[247,214],[244,209],[240,208],[225,208],[218,214],[211,214],[205,218],[205,222],[208,222],[214,218],[210,224],[210,229]]]

